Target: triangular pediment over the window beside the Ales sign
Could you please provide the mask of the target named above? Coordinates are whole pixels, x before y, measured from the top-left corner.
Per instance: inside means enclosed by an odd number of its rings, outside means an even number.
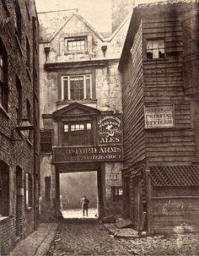
[[[100,114],[98,109],[79,104],[78,102],[74,102],[52,113],[54,119],[61,119],[64,117],[83,117],[98,114]]]

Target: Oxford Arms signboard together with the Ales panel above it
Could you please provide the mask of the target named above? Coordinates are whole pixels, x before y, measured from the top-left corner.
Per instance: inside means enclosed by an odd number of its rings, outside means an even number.
[[[97,122],[97,146],[56,147],[54,163],[122,161],[121,115],[102,115]]]

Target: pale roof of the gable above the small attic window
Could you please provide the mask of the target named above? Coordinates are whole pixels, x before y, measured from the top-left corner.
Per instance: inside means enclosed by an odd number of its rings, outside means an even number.
[[[77,9],[39,13],[38,16],[40,21],[40,42],[51,42],[74,16],[81,20],[89,30],[93,31],[101,41],[104,40],[103,35],[100,35],[100,33],[94,30],[94,28],[77,13]]]

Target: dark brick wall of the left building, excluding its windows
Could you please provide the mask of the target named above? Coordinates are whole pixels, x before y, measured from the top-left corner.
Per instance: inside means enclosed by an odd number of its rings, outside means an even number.
[[[8,166],[9,172],[9,215],[7,218],[0,216],[1,253],[8,253],[17,236],[26,237],[34,230],[34,208],[26,210],[25,190],[23,190],[24,195],[20,198],[17,195],[17,166],[22,170],[20,188],[24,189],[25,172],[30,173],[33,181],[32,188],[34,188],[35,136],[32,133],[30,141],[24,141],[16,130],[19,101],[16,76],[19,78],[22,87],[22,116],[27,117],[26,106],[28,100],[30,102],[30,123],[34,125],[37,118],[39,124],[39,118],[35,117],[34,114],[34,93],[38,87],[35,82],[35,74],[38,73],[39,62],[35,49],[38,49],[38,35],[36,33],[38,33],[39,28],[37,22],[34,21],[35,18],[33,18],[36,17],[33,0],[30,0],[27,6],[24,1],[19,1],[19,9],[21,13],[21,40],[19,40],[14,27],[14,1],[3,0],[0,3],[0,39],[8,55],[8,110],[6,111],[0,106],[0,162]],[[35,32],[34,24],[37,32]],[[30,44],[29,71],[26,67],[26,41],[29,41]],[[13,141],[13,139],[19,141]],[[33,189],[32,197],[34,197]]]

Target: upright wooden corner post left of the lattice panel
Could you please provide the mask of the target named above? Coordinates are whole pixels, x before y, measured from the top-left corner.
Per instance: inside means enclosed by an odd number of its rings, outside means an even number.
[[[152,215],[152,186],[150,170],[146,170],[146,199],[147,199],[147,219],[148,219],[148,234],[153,233],[153,215]]]

